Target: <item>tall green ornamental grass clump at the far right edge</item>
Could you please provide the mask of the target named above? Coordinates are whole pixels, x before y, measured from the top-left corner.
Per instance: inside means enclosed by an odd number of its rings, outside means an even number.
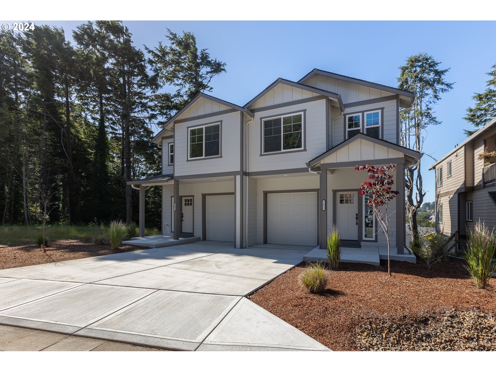
[[[495,230],[489,231],[484,222],[477,222],[474,231],[469,231],[465,268],[472,276],[477,289],[484,289],[496,270],[493,258],[496,249]]]

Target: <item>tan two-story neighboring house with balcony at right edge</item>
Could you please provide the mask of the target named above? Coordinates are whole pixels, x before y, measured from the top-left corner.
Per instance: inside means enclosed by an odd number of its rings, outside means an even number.
[[[479,129],[429,168],[435,171],[436,231],[451,235],[479,219],[496,226],[496,157],[485,165],[479,155],[496,150],[496,119]]]

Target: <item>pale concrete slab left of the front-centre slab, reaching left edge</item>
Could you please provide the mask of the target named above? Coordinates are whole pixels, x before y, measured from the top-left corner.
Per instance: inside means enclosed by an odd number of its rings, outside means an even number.
[[[0,324],[72,334],[154,290],[85,284],[0,311]]]

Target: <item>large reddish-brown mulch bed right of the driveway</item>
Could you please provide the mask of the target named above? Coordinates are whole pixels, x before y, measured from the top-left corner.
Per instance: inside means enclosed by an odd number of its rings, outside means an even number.
[[[324,294],[300,288],[301,264],[248,298],[331,350],[358,350],[356,329],[371,319],[400,320],[435,316],[442,310],[477,309],[496,313],[496,279],[488,289],[475,288],[463,261],[422,264],[387,261],[380,267],[342,263],[329,272]]]

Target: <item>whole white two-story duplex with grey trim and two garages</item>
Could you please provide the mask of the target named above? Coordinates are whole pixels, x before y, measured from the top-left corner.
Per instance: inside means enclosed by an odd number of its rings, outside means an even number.
[[[385,247],[355,166],[395,164],[390,208],[405,204],[404,168],[422,154],[399,145],[399,111],[414,96],[318,69],[279,78],[244,106],[200,93],[152,139],[163,174],[129,183],[140,185],[139,226],[144,187],[160,185],[162,233],[174,239],[316,247],[336,224],[346,247]],[[392,251],[408,253],[405,214],[393,216]]]

